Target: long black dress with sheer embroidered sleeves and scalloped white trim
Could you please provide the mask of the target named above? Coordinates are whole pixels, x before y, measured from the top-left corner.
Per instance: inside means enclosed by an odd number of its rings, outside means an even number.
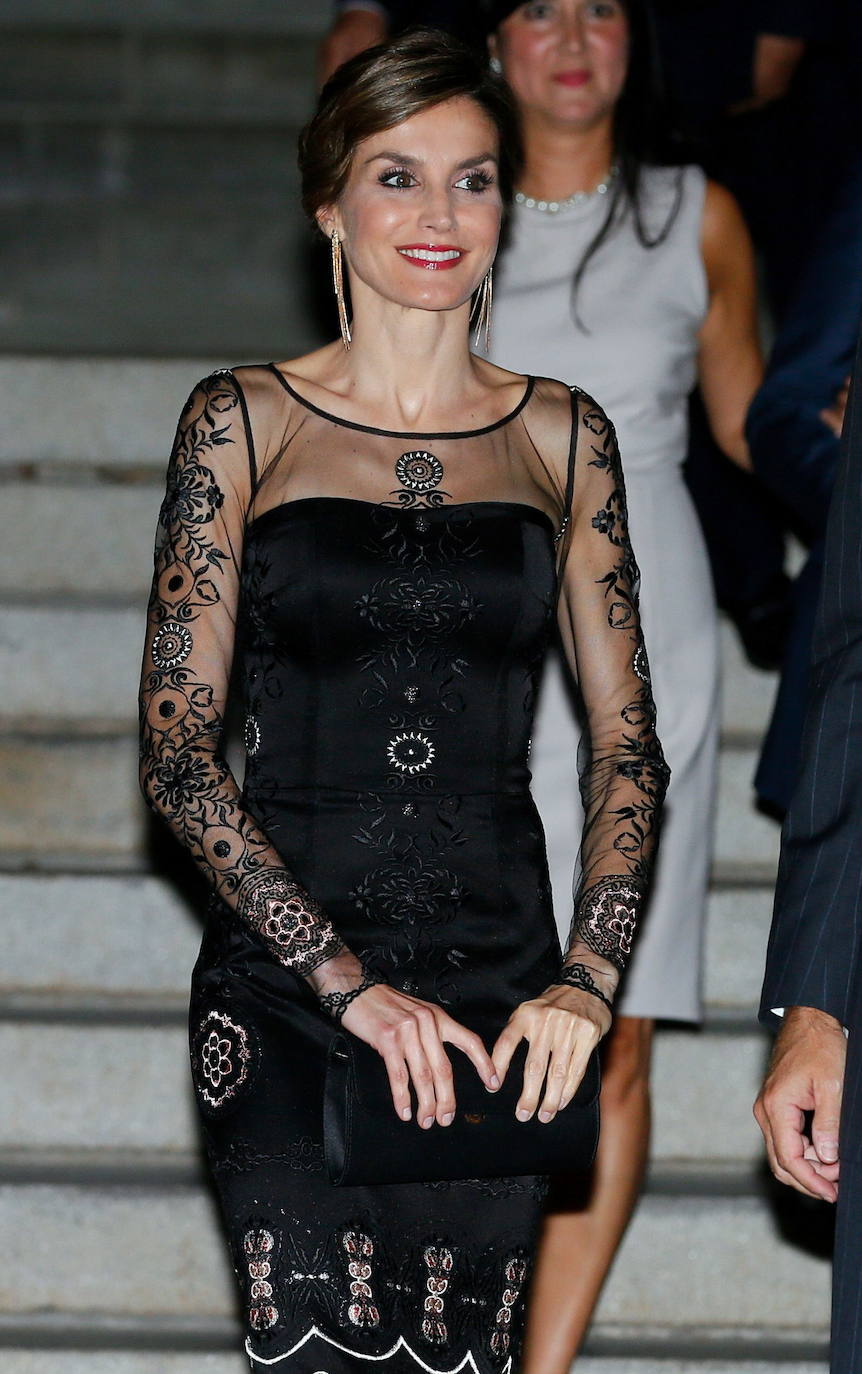
[[[665,783],[635,588],[613,431],[557,382],[441,434],[331,416],[272,365],[183,412],[142,780],[214,889],[191,1062],[254,1369],[516,1367],[543,1180],[333,1187],[308,978],[346,951],[498,1028],[557,980],[528,771],[557,616],[593,745],[573,940],[624,962]]]

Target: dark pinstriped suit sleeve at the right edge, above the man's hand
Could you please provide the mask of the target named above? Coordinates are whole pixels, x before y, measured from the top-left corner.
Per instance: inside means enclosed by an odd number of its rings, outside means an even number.
[[[760,1015],[851,1020],[862,943],[862,339],[829,513],[811,691],[785,820]]]

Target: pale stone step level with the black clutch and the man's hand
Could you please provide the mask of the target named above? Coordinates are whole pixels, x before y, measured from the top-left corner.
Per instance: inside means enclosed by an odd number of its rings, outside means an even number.
[[[653,1070],[659,1164],[755,1168],[760,1162],[751,1106],[767,1047],[759,1030],[659,1032]],[[0,1150],[181,1154],[197,1149],[184,1024],[0,1020],[0,1062],[5,1065]]]

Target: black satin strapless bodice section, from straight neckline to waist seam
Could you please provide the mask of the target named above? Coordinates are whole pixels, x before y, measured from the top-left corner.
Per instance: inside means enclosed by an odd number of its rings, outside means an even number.
[[[500,502],[307,497],[246,534],[246,790],[527,786],[554,530]]]

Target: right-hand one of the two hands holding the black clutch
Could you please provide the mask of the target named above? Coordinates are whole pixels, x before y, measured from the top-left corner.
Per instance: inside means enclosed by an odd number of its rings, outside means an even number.
[[[610,1011],[598,998],[561,984],[516,1007],[491,1058],[502,1083],[521,1040],[529,1044],[516,1107],[518,1121],[529,1121],[536,1107],[540,1121],[553,1121],[569,1105],[590,1055],[610,1029]]]

